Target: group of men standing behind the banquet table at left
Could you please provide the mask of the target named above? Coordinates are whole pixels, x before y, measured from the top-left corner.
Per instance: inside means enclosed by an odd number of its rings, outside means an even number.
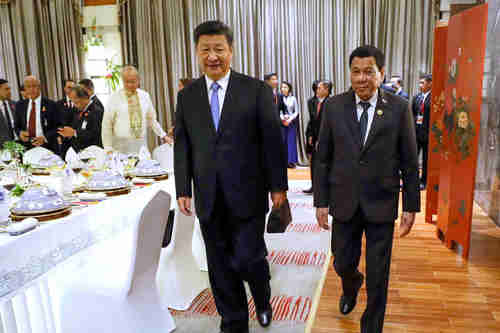
[[[122,69],[123,89],[115,91],[104,106],[90,79],[64,80],[64,97],[58,101],[42,96],[41,82],[27,76],[21,99],[14,103],[11,87],[0,79],[0,145],[18,141],[27,149],[44,147],[65,157],[72,147],[89,146],[123,153],[138,153],[147,146],[152,130],[162,143],[173,142],[156,119],[150,95],[139,88],[140,75],[133,66]]]

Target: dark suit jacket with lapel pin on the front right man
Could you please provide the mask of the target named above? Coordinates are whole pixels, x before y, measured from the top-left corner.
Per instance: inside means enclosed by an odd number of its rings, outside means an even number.
[[[315,169],[314,205],[349,221],[361,206],[371,222],[397,218],[400,171],[403,210],[420,211],[417,146],[408,102],[380,90],[368,138],[361,147],[354,92],[326,104]]]

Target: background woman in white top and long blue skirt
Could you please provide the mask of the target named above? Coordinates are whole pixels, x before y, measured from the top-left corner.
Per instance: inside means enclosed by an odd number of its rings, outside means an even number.
[[[292,96],[292,85],[289,82],[281,83],[281,93],[286,105],[286,111],[280,112],[281,129],[283,141],[288,147],[288,167],[295,168],[298,162],[297,156],[297,121],[299,116],[299,104],[295,96]]]

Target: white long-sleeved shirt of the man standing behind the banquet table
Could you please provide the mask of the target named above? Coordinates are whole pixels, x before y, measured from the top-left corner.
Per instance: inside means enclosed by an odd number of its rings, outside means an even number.
[[[109,97],[102,119],[102,144],[105,150],[138,153],[142,146],[147,147],[148,128],[152,128],[153,132],[160,138],[167,135],[156,120],[156,111],[149,94],[142,89],[137,89],[137,96],[142,111],[142,136],[136,138],[132,134],[128,99],[125,91],[119,90]],[[148,118],[151,119],[151,126],[148,126]]]

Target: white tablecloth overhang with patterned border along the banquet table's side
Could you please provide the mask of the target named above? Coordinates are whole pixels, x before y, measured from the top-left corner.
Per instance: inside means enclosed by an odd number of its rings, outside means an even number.
[[[162,190],[172,196],[171,208],[175,208],[172,177],[129,195],[74,209],[71,215],[42,223],[21,236],[0,234],[0,304],[82,250],[134,225],[143,208]]]

